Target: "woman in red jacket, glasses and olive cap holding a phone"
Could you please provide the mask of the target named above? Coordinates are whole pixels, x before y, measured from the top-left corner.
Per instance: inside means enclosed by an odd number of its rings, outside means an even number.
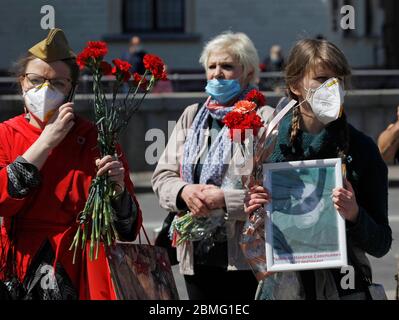
[[[0,279],[24,283],[31,298],[114,299],[104,248],[73,264],[69,247],[92,177],[103,174],[116,185],[119,237],[135,239],[142,218],[126,160],[99,159],[95,125],[74,114],[79,68],[60,29],[29,50],[18,77],[25,113],[0,123]]]

